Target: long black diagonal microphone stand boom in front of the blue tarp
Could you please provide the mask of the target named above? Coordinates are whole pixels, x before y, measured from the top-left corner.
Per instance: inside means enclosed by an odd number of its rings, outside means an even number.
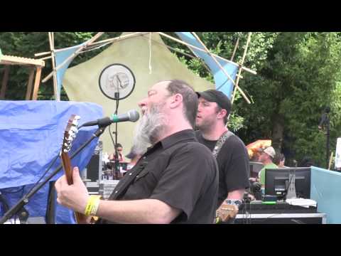
[[[99,127],[97,129],[96,132],[94,132],[94,134],[92,134],[92,137],[90,139],[87,140],[87,142],[85,142],[84,144],[82,144],[82,146],[80,146],[79,149],[77,149],[71,156],[70,159],[73,159],[78,153],[80,153],[80,151],[82,151],[82,149],[85,148],[85,146],[87,146],[88,144],[90,144],[90,142],[92,142],[92,140],[94,138],[98,138],[99,136],[102,135],[102,133],[104,132],[106,127]],[[60,171],[60,169],[63,169],[63,165],[60,164],[58,166],[57,169],[55,169],[55,171],[53,171],[52,174],[50,174],[47,178],[45,178],[45,181],[38,183],[37,186],[35,186],[33,189],[31,189],[31,191],[26,194],[25,196],[23,196],[23,198],[20,199],[20,201],[18,201],[18,203],[16,203],[15,206],[13,206],[11,209],[9,209],[4,216],[0,219],[0,224],[4,224],[7,220],[9,220],[9,218],[11,218],[13,215],[15,215],[18,212],[22,211],[23,206],[25,206],[26,204],[28,204],[29,199],[40,189],[42,188],[45,183],[48,183],[48,181],[50,181],[50,179],[55,176],[56,174],[58,174],[58,172]]]

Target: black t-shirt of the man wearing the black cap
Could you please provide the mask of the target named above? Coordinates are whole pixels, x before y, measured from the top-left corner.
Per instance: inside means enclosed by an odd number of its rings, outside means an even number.
[[[204,144],[211,151],[217,144],[202,137],[200,131],[195,131],[197,141]],[[230,191],[249,187],[249,154],[237,135],[232,134],[222,145],[217,156],[219,165],[219,195],[217,207],[227,198]]]

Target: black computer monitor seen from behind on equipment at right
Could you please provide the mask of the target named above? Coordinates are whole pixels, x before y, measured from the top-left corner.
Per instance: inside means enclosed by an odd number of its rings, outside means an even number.
[[[295,174],[296,197],[310,198],[310,167],[266,169],[265,194],[277,196],[280,200],[285,198],[290,183],[289,174]]]

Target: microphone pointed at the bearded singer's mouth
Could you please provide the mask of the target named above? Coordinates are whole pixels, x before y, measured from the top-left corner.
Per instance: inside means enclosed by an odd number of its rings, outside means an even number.
[[[125,114],[112,114],[110,117],[104,117],[101,119],[97,119],[96,121],[90,121],[82,124],[80,127],[89,127],[93,125],[98,125],[99,127],[106,127],[112,123],[117,122],[136,122],[139,120],[140,114],[136,110],[130,110]],[[80,129],[80,127],[78,129]]]

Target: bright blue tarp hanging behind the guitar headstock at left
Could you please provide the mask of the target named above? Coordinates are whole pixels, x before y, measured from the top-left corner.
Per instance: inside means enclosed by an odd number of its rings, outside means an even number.
[[[0,101],[0,192],[9,207],[26,194],[43,175],[63,142],[67,120],[71,114],[81,117],[80,124],[103,116],[102,107],[89,102]],[[84,127],[77,133],[70,155],[90,139],[97,127]],[[97,139],[72,159],[80,170],[87,166]],[[60,165],[60,158],[48,174]],[[46,174],[46,176],[48,176]],[[63,174],[60,171],[52,180]],[[31,217],[45,216],[48,184],[25,206]],[[0,204],[0,215],[4,207]],[[72,212],[57,203],[56,223],[73,223]]]

